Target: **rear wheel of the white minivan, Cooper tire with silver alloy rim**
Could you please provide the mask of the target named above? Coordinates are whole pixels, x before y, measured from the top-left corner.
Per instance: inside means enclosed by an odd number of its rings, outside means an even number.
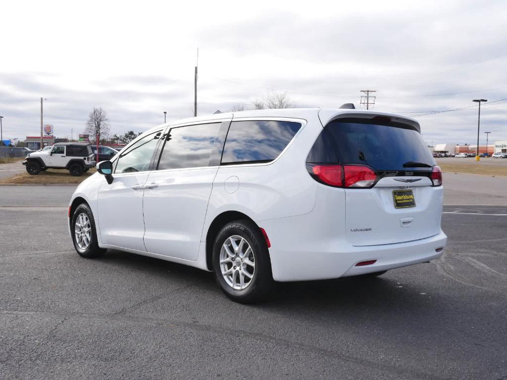
[[[248,258],[244,256],[246,253]],[[231,260],[231,256],[234,261],[220,263],[221,257]],[[232,300],[252,303],[266,300],[270,295],[273,276],[268,247],[259,227],[250,220],[235,220],[222,227],[213,244],[212,263],[216,283]]]

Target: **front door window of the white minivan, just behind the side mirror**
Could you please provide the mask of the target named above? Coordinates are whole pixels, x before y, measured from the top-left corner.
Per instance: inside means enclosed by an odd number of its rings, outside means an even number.
[[[137,140],[122,152],[117,160],[115,173],[142,172],[150,169],[161,131],[150,133]]]

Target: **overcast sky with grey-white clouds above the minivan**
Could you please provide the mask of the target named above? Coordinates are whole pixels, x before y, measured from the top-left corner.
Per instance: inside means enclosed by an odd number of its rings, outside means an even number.
[[[507,139],[507,99],[490,104],[507,98],[507,3],[411,3],[4,2],[4,138],[40,134],[41,96],[59,137],[82,133],[94,106],[118,134],[162,123],[163,111],[190,117],[199,48],[199,115],[271,91],[302,107],[359,107],[372,89],[375,110],[416,116],[435,143],[476,141],[472,99],[488,99],[481,142],[484,131]]]

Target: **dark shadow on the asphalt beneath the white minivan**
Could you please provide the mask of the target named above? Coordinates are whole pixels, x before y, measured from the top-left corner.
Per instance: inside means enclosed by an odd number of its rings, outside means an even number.
[[[100,259],[123,269],[135,268],[151,276],[165,276],[167,281],[192,282],[192,291],[202,289],[208,296],[219,302],[231,302],[216,285],[213,274],[188,265],[160,260],[148,256],[141,256],[116,250],[108,250]],[[439,296],[426,296],[427,289],[419,289],[411,284],[410,288],[400,285],[389,277],[389,272],[380,277],[346,277],[333,280],[302,281],[275,283],[273,293],[266,302],[246,307],[266,310],[292,309],[308,310],[344,310],[368,309],[381,311],[395,311],[424,314],[431,312],[431,304],[440,303]],[[419,302],[419,300],[421,302]],[[242,307],[245,307],[244,305]]]

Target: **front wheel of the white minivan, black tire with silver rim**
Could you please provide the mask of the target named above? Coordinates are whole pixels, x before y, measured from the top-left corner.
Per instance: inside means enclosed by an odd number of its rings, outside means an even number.
[[[82,226],[78,231],[76,223]],[[78,227],[79,228],[79,227]],[[95,229],[95,221],[93,219],[92,211],[86,203],[80,204],[70,222],[70,231],[72,234],[72,241],[76,252],[82,257],[95,258],[104,254],[104,248],[100,248],[97,242],[97,230]],[[86,242],[88,241],[88,244]]]

